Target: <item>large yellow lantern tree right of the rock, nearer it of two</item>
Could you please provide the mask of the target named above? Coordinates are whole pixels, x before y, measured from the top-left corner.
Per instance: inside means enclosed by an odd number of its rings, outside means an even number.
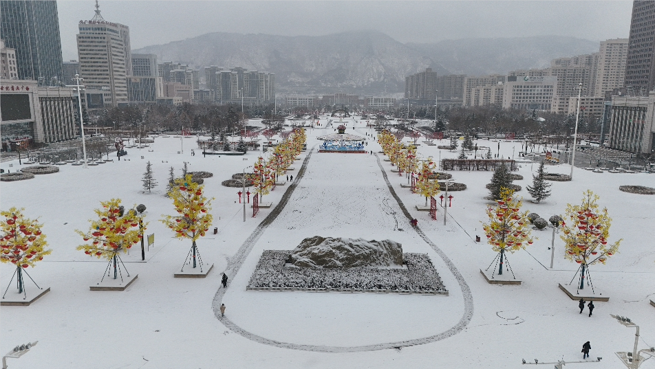
[[[500,264],[498,267],[500,276],[503,273],[503,265],[506,263],[509,271],[514,275],[506,254],[508,252],[513,254],[515,251],[533,244],[533,238],[530,237],[528,212],[520,212],[523,201],[516,199],[513,190],[508,188],[501,189],[500,200],[496,200],[496,202],[494,207],[490,206],[486,210],[490,222],[482,224],[487,242],[493,251],[498,253],[486,270],[489,270],[491,265],[496,262],[497,265]],[[493,268],[492,278],[496,267]]]

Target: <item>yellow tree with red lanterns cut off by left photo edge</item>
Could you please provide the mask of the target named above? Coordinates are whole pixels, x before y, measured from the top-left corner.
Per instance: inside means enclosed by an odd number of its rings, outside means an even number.
[[[11,262],[16,265],[14,275],[2,298],[5,298],[14,277],[17,277],[18,293],[23,293],[27,298],[23,273],[27,274],[28,277],[30,275],[23,269],[34,267],[37,261],[43,260],[43,256],[50,255],[52,252],[50,249],[45,249],[47,242],[45,241],[45,234],[41,232],[43,225],[39,224],[37,219],[25,218],[22,213],[23,210],[25,209],[10,208],[9,211],[0,212],[0,215],[4,217],[0,221],[0,229],[2,230],[0,261]],[[30,280],[34,282],[32,277],[30,277]],[[38,284],[36,284],[36,288],[41,289]]]

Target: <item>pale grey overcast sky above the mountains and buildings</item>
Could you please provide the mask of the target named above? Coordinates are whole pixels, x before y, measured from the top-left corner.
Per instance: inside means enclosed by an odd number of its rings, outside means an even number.
[[[94,0],[57,1],[64,60],[77,59],[80,20]],[[209,32],[319,36],[378,30],[407,43],[568,35],[627,38],[632,1],[125,1],[100,0],[106,21],[130,28],[133,49]]]

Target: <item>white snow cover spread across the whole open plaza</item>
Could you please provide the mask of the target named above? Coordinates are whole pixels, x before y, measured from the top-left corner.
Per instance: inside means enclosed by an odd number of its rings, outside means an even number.
[[[321,117],[321,122],[327,121]],[[380,151],[365,121],[357,120],[355,130],[352,119],[344,123],[349,132],[367,139],[365,149]],[[308,130],[308,152],[301,159],[319,144],[317,136],[332,131]],[[576,168],[572,181],[549,181],[552,196],[541,203],[531,203],[526,190],[518,192],[528,200],[523,210],[544,219],[563,214],[567,203],[579,203],[588,188],[601,197],[599,205],[608,208],[613,219],[610,241],[623,242],[607,265],[591,269],[594,287],[610,301],[597,302],[594,315],[588,317],[580,315],[577,302],[558,288],[559,283],[570,282],[577,269],[564,260],[559,237],[555,267],[548,268],[550,228],[533,230],[538,237],[534,245],[508,255],[522,284],[492,285],[480,274],[495,257],[490,245],[474,241],[475,235],[484,236],[481,222],[486,221],[484,210],[490,204],[484,199],[488,194],[484,185],[492,172],[449,171],[467,189],[452,193],[444,225],[442,208],[436,221],[416,210],[414,205],[424,205],[425,198],[401,188],[407,178],[390,172],[391,164],[382,155],[378,161],[376,155],[316,153],[314,147],[303,177],[298,178],[297,168],[294,181],[288,183],[296,186],[266,195],[263,200],[273,206],[261,209],[257,218],[246,206],[244,222],[237,195],[241,189],[220,183],[253,165],[261,153],[202,157],[195,149],[191,156],[195,140],[187,139],[184,154],[178,155],[180,141],[156,137],[149,147],[152,152],[130,148],[126,157],[107,165],[59,166],[57,173],[1,183],[1,208],[23,207],[26,216],[39,217],[53,249],[30,269],[32,278],[51,291],[31,306],[0,308],[0,350],[39,340],[27,355],[10,359],[10,368],[522,368],[521,359],[581,360],[586,341],[591,341],[592,358],[603,357],[594,368],[622,368],[614,352],[632,349],[634,329],[616,323],[610,313],[630,317],[641,326],[640,348],[655,345],[655,308],[649,304],[655,297],[655,196],[619,191],[621,185],[655,187],[655,175]],[[484,140],[477,144],[497,147],[497,142]],[[511,156],[513,149],[518,153],[520,145],[500,142],[501,156]],[[427,145],[419,146],[418,153],[435,159],[458,155]],[[139,159],[141,155],[144,159]],[[147,161],[160,183],[152,194],[142,191]],[[168,168],[174,166],[179,175],[183,161],[189,162],[189,170],[214,174],[204,184],[207,194],[216,198],[211,229],[219,232],[197,241],[206,265],[214,264],[206,278],[173,278],[191,242],[172,238],[158,221],[162,214],[173,213],[171,200],[163,196]],[[538,165],[519,165],[517,174],[524,179],[514,183],[526,188]],[[380,166],[405,210],[387,188]],[[8,161],[1,167],[14,172],[20,166]],[[546,168],[566,175],[569,170],[566,164]],[[292,188],[277,219],[258,228]],[[122,256],[130,274],[139,276],[125,291],[89,291],[102,278],[107,262],[77,251],[82,240],[74,230],[87,229],[99,201],[113,197],[126,207],[147,206],[147,234],[155,234],[155,244],[146,251],[145,261],[138,248]],[[409,224],[405,211],[418,219],[418,228]],[[261,233],[250,237],[256,229]],[[290,250],[316,235],[389,239],[401,243],[404,252],[427,254],[449,295],[246,291],[265,249]],[[237,253],[248,245],[246,239],[253,241],[252,248]],[[222,272],[239,260],[243,265],[236,268],[236,275],[228,273],[228,288],[223,290]],[[3,288],[13,271],[10,265],[0,266]],[[31,283],[28,280],[25,286],[34,289]],[[226,305],[223,321],[215,316],[218,300]],[[380,349],[391,347],[385,344],[402,349]],[[641,368],[655,368],[655,361],[646,361]]]

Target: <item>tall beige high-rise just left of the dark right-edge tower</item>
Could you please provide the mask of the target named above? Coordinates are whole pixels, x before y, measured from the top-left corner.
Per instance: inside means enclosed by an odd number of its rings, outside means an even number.
[[[623,87],[625,82],[625,60],[627,60],[627,38],[601,41],[596,84],[590,96],[605,96],[605,92]]]

